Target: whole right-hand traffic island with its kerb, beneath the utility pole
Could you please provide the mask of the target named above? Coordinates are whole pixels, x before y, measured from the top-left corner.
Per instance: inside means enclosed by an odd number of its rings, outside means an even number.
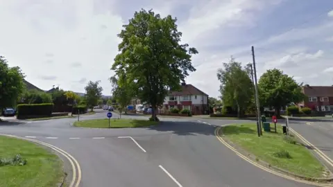
[[[217,134],[237,152],[261,166],[309,181],[333,181],[330,170],[292,134],[286,136],[282,127],[271,124],[272,132],[257,136],[256,124],[234,124],[221,127]]]

